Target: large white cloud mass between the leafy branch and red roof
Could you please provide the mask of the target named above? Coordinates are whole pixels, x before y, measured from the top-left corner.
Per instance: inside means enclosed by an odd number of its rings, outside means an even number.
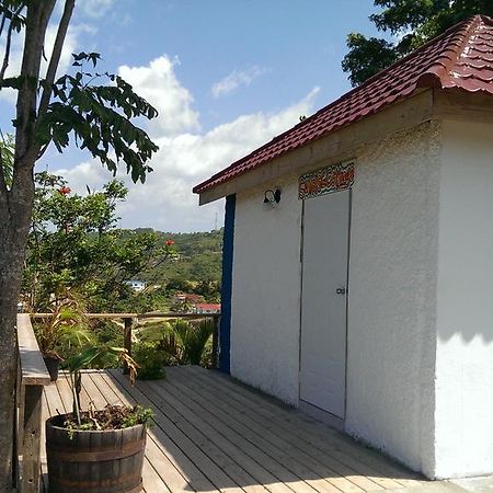
[[[121,69],[126,79],[128,74],[133,77],[130,82],[139,94],[165,111],[160,117],[165,118],[164,122],[157,122],[153,128],[157,131],[154,141],[160,149],[152,158],[150,165],[154,171],[148,175],[147,182],[134,185],[124,173],[118,175],[130,190],[127,200],[119,207],[123,227],[152,227],[164,231],[210,230],[216,215],[220,225],[222,203],[198,208],[192,187],[296,125],[299,115],[311,114],[319,91],[313,89],[299,102],[279,112],[243,115],[209,131],[193,134],[191,129],[198,126],[198,114],[192,110],[192,96],[177,81],[173,67],[167,57],[161,57],[149,67]],[[173,103],[172,94],[182,98],[181,101]],[[188,112],[188,116],[183,118],[183,112]],[[111,179],[96,162],[83,162],[73,169],[55,172],[62,174],[80,193],[84,193],[87,184],[92,190],[101,188]]]

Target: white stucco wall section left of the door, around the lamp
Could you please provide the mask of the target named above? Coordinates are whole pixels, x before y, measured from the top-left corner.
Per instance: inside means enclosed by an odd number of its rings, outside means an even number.
[[[278,206],[264,192],[280,187]],[[237,195],[231,375],[298,404],[301,202],[296,176]]]

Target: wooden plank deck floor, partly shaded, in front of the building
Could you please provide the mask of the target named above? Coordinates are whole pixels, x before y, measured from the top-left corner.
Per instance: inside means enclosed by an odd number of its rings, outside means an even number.
[[[82,405],[150,405],[147,493],[356,493],[402,491],[422,478],[274,399],[217,371],[171,367],[164,380],[85,371]],[[44,417],[70,410],[66,378],[45,387]],[[43,477],[46,454],[42,438]]]

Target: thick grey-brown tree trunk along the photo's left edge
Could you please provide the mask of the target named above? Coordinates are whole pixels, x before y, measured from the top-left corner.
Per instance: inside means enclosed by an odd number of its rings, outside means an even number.
[[[12,491],[12,449],[16,375],[15,314],[25,244],[34,200],[34,162],[37,90],[45,33],[56,0],[27,1],[25,43],[15,105],[15,154],[11,190],[0,179],[0,493]],[[70,2],[72,3],[72,1]],[[51,82],[51,81],[50,81]],[[50,88],[47,94],[49,94]],[[3,173],[3,169],[0,168]]]

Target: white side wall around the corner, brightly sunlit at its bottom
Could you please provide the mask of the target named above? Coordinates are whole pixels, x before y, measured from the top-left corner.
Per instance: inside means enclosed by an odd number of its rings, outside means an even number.
[[[444,124],[436,475],[493,472],[493,125]]]

